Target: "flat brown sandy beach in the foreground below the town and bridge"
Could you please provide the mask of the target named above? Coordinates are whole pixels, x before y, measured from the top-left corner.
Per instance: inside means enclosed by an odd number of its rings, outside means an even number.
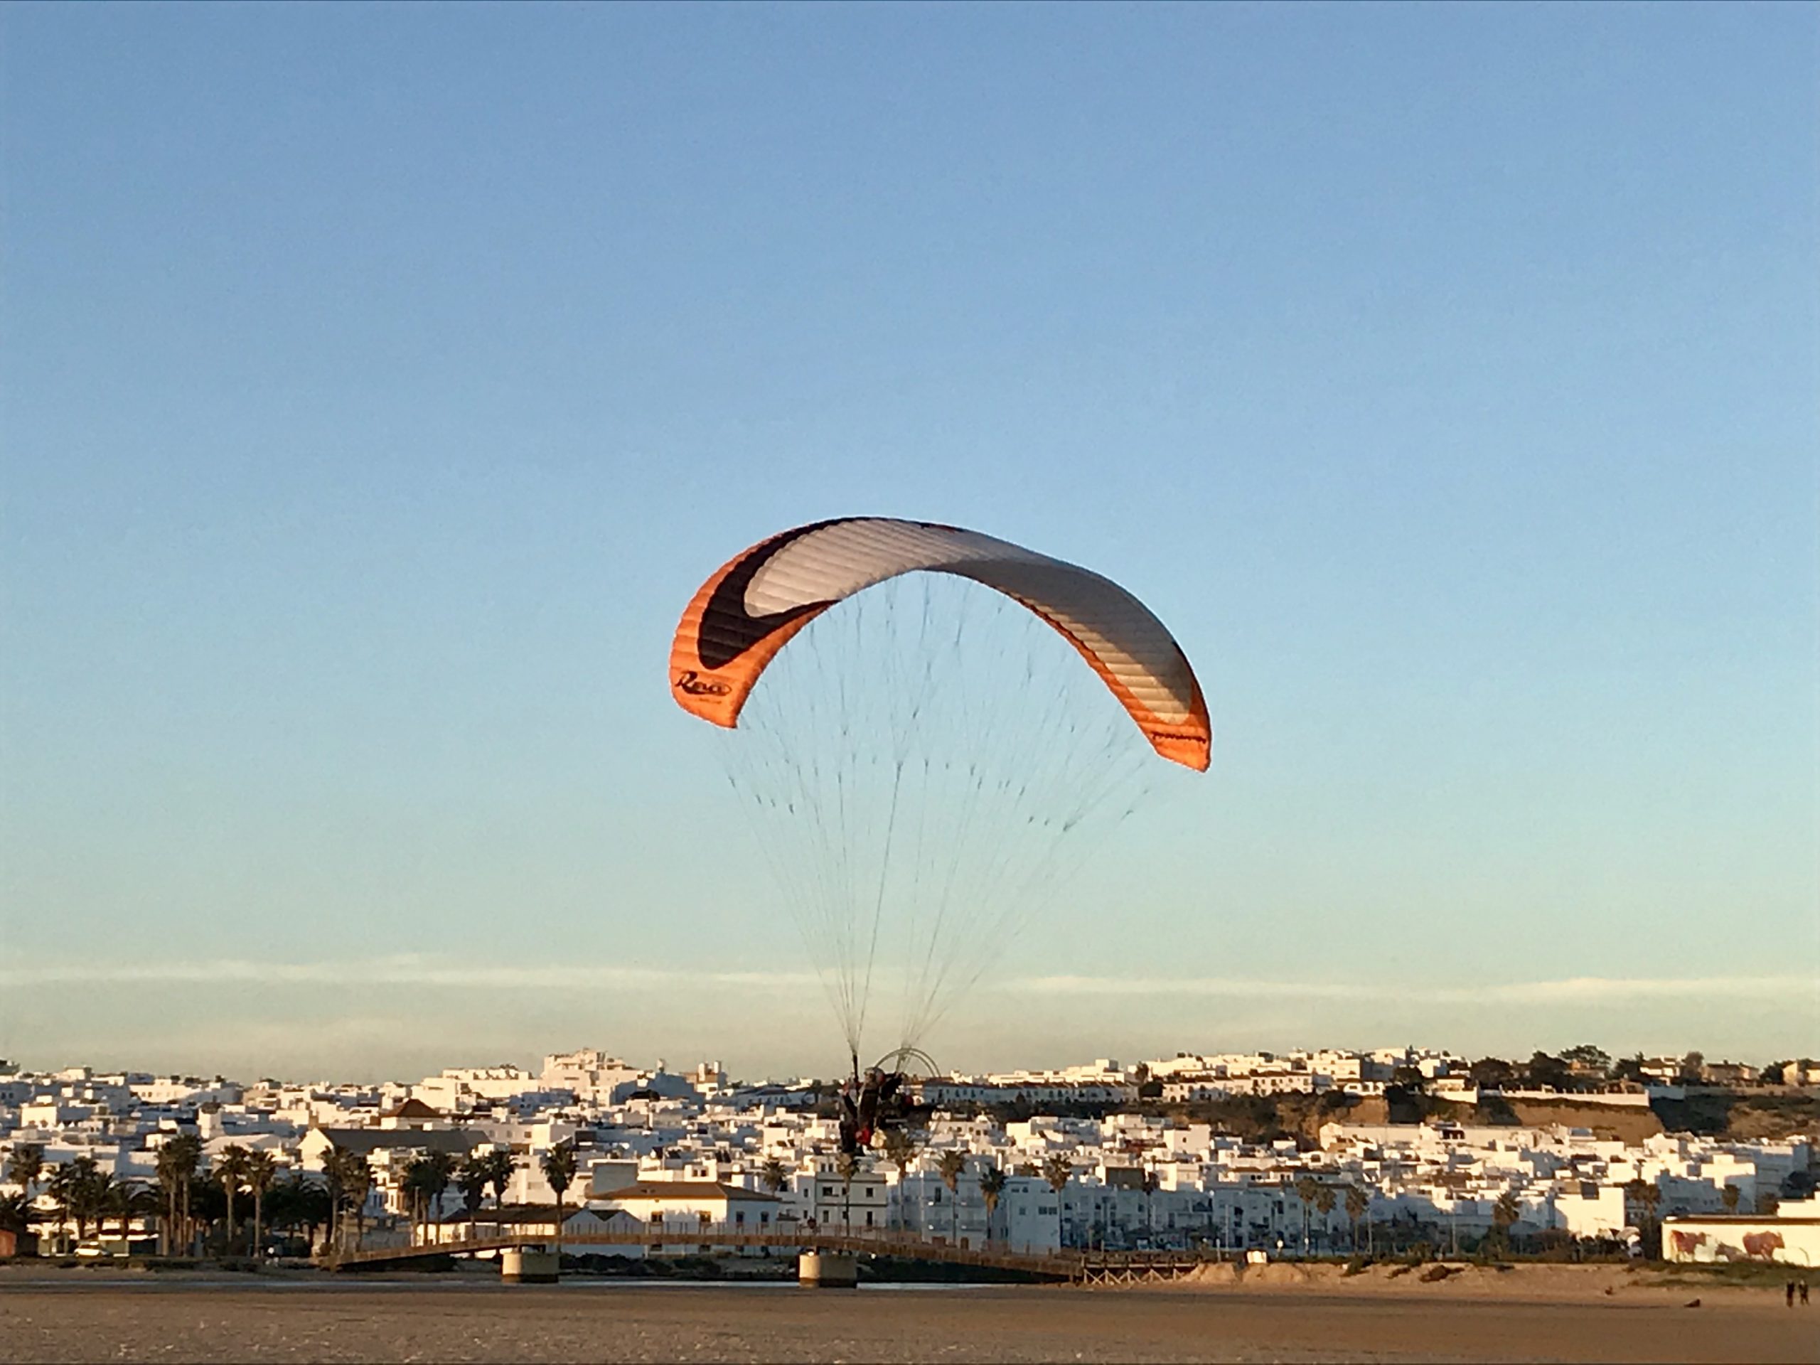
[[[1565,1269],[1565,1267],[1563,1267]],[[0,1276],[0,1361],[1809,1361],[1820,1310],[1727,1289],[863,1289]],[[1587,1289],[1587,1287],[1582,1287]],[[1540,1294],[1540,1298],[1538,1298]],[[1680,1294],[1680,1298],[1676,1298]]]

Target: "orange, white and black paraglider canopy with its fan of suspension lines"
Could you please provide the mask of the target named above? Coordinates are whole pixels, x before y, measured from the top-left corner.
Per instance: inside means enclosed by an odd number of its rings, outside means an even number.
[[[861,1101],[888,1127],[903,1070],[859,1067],[875,977],[901,986],[888,1057],[912,1057],[1150,774],[1203,772],[1212,744],[1187,655],[1138,597],[935,522],[846,517],[735,555],[682,613],[670,688],[728,732],[728,779],[841,1017],[855,1138],[879,1127]]]

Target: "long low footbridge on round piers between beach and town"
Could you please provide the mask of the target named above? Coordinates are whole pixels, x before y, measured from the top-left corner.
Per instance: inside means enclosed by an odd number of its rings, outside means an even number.
[[[364,1243],[359,1250],[333,1250],[318,1258],[331,1270],[360,1270],[410,1265],[439,1256],[475,1256],[519,1249],[548,1249],[555,1238],[548,1232],[495,1232],[435,1239],[399,1239]],[[784,1254],[804,1250],[852,1252],[859,1256],[899,1256],[914,1261],[970,1265],[992,1270],[1016,1270],[1043,1279],[1063,1279],[1077,1285],[1130,1283],[1138,1279],[1174,1279],[1187,1274],[1203,1258],[1192,1252],[1028,1252],[1005,1245],[974,1247],[966,1239],[956,1243],[945,1238],[919,1238],[892,1228],[792,1228],[752,1230],[748,1227],[708,1225],[699,1228],[641,1227],[612,1232],[568,1232],[564,1250],[575,1247],[642,1247],[670,1256],[701,1256],[717,1250],[774,1249]]]

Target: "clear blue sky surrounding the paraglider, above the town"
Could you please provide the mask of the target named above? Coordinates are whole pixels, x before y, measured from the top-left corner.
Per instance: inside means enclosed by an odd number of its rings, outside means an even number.
[[[662,661],[846,513],[1219,733],[943,1059],[1811,1052],[1816,33],[7,7],[0,1056],[826,1070]]]

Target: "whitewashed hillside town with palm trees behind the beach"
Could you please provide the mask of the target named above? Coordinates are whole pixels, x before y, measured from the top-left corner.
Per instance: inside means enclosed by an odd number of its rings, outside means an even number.
[[[1527,1063],[1096,1059],[912,1079],[914,1121],[855,1154],[837,1087],[741,1083],[712,1061],[579,1050],[380,1085],[0,1063],[0,1254],[295,1258],[504,1230],[555,1241],[561,1221],[566,1259],[630,1270],[699,1254],[708,1227],[1021,1252],[1813,1263],[1816,1087],[1813,1059],[1596,1046]],[[582,1241],[613,1228],[642,1241]]]

